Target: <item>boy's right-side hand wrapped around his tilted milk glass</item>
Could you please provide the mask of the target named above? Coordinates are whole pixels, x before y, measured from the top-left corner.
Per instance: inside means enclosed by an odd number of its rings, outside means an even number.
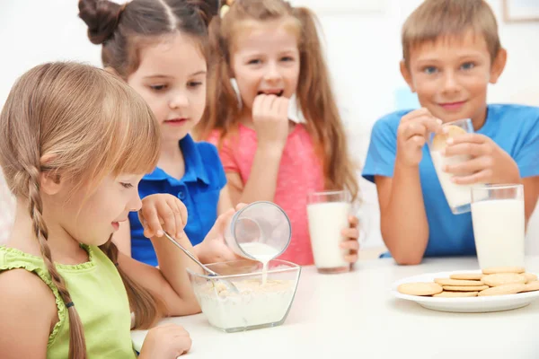
[[[487,136],[455,136],[447,140],[446,150],[442,154],[472,156],[470,161],[447,165],[444,169],[455,175],[452,180],[456,184],[520,182],[517,162]]]

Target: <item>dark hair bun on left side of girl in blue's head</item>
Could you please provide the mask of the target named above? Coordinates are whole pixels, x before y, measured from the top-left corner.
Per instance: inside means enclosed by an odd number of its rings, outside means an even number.
[[[79,0],[79,17],[88,25],[88,38],[100,45],[114,34],[124,5],[107,0]]]

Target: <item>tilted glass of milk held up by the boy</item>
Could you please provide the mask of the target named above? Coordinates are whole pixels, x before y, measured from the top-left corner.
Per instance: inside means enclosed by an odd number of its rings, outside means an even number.
[[[428,143],[430,157],[432,158],[437,178],[446,195],[447,204],[451,208],[451,212],[454,215],[460,215],[470,212],[470,204],[472,203],[471,189],[476,185],[457,185],[453,183],[451,178],[454,175],[444,171],[444,166],[466,162],[472,157],[469,155],[446,157],[440,151],[446,148],[446,141],[449,137],[473,133],[472,120],[465,118],[458,121],[446,122],[442,128],[445,128],[447,132],[443,134],[430,134]]]

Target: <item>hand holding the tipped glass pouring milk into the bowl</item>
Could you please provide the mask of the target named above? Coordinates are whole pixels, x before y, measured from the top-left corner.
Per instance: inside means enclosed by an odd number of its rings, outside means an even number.
[[[241,209],[243,206],[245,205],[239,204],[236,206],[236,210]],[[195,246],[195,253],[202,263],[226,262],[240,258],[225,242],[225,231],[234,213],[234,209],[231,208],[223,215],[219,215],[204,241]]]

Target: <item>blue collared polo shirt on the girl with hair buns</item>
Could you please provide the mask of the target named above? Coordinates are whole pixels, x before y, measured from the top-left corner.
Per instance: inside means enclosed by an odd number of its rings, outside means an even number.
[[[190,135],[180,141],[185,160],[185,174],[177,180],[157,167],[138,185],[141,198],[156,193],[170,193],[180,198],[187,207],[185,232],[193,245],[204,240],[217,218],[217,202],[226,177],[216,146],[207,142],[196,143]],[[136,212],[129,214],[131,225],[131,255],[138,261],[157,266],[152,242],[143,232]]]

